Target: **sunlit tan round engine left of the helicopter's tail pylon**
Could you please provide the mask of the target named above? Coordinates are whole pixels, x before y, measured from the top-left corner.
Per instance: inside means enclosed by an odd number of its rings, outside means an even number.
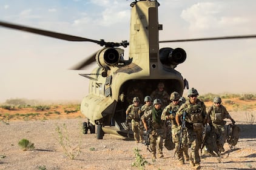
[[[96,62],[101,68],[106,68],[118,64],[122,53],[121,48],[103,48],[96,54]]]

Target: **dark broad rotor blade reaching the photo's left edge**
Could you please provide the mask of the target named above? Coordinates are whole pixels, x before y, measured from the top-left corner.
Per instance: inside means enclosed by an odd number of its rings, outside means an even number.
[[[78,36],[56,33],[56,32],[53,32],[53,31],[41,30],[41,29],[27,27],[27,26],[23,26],[23,25],[10,24],[10,23],[7,23],[7,22],[2,22],[2,21],[0,21],[0,26],[7,27],[7,28],[13,28],[15,30],[27,31],[27,32],[30,32],[30,33],[35,33],[35,34],[41,34],[41,35],[49,36],[49,37],[52,37],[52,38],[64,39],[64,40],[67,40],[67,41],[89,41],[89,42],[95,42],[97,44],[101,43],[101,41],[96,41],[96,40],[93,40],[93,39],[81,38],[81,37],[78,37]]]

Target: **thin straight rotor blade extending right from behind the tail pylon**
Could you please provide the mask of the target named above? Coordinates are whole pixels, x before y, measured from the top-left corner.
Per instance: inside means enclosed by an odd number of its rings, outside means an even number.
[[[176,40],[166,40],[166,41],[159,41],[159,42],[163,43],[163,42],[186,42],[186,41],[210,41],[210,40],[218,40],[218,39],[245,39],[245,38],[256,38],[256,34],[240,35],[240,36],[223,36],[223,37],[214,37],[214,38],[176,39]]]

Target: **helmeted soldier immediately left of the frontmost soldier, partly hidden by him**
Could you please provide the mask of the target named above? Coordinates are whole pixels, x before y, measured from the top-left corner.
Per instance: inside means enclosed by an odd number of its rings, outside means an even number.
[[[172,129],[167,129],[167,131],[172,131],[172,141],[175,143],[175,152],[178,154],[178,160],[180,161],[180,164],[184,164],[184,156],[187,161],[189,161],[189,154],[187,153],[188,145],[187,145],[187,131],[186,129],[183,130],[183,134],[181,135],[181,131],[178,128],[177,122],[175,120],[176,113],[178,111],[178,108],[183,104],[183,102],[180,100],[180,94],[176,91],[174,91],[172,94],[170,94],[170,104],[164,108],[163,113],[161,115],[162,120],[166,120],[171,123]],[[182,136],[182,139],[180,139],[180,136]],[[180,140],[182,143],[182,146],[180,147]]]

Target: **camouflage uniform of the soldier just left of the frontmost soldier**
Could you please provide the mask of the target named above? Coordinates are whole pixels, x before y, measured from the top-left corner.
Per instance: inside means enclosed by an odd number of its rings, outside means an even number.
[[[179,149],[181,129],[178,127],[177,122],[175,120],[176,113],[181,105],[182,105],[181,101],[179,101],[177,105],[171,102],[169,105],[167,105],[164,108],[163,113],[161,115],[161,119],[166,120],[166,122],[169,122],[171,124],[171,128],[167,128],[167,133],[171,131],[170,133],[172,134],[172,141],[173,143],[175,143],[175,152],[177,153],[178,160],[181,163],[184,163],[184,157],[186,157],[186,160],[189,159],[187,131],[186,129],[184,129],[183,131],[183,137],[181,139],[182,140],[181,143],[183,143],[183,146]]]

